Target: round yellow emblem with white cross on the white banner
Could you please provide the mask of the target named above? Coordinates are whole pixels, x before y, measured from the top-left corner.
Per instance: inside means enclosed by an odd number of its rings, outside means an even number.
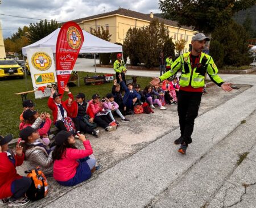
[[[31,63],[35,69],[39,71],[46,71],[52,65],[51,57],[45,52],[36,52],[31,58]]]

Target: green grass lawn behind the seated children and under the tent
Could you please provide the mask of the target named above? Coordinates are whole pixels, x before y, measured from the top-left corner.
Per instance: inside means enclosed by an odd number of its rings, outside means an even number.
[[[86,86],[84,84],[84,80],[82,77],[86,77],[87,75],[92,76],[94,73],[83,73],[79,72],[80,77],[80,87],[76,82],[77,86],[69,87],[69,90],[72,92],[74,96],[78,92],[83,92],[86,96],[86,99],[91,99],[92,95],[95,93],[100,94],[101,96],[105,96],[107,93],[111,92],[113,83],[105,83],[101,85],[89,85]],[[97,75],[101,75],[98,73]],[[130,77],[127,76],[127,79]],[[142,88],[147,86],[152,78],[144,78],[138,77],[137,83],[141,85]],[[9,133],[14,134],[14,138],[17,138],[19,135],[19,116],[23,111],[22,107],[22,99],[20,95],[14,95],[18,92],[25,92],[29,90],[33,90],[31,77],[27,78],[27,87],[26,88],[26,80],[25,79],[3,79],[0,80],[0,135],[6,135]],[[36,104],[36,109],[39,112],[49,112],[51,110],[47,106],[48,97],[44,99],[36,99],[34,93],[30,93],[27,95],[27,99],[31,99]],[[67,99],[67,95],[64,94],[63,99]]]

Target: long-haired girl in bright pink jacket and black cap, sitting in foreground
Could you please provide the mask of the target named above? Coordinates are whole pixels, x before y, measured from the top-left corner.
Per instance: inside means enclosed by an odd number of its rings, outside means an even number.
[[[88,180],[95,171],[94,158],[90,141],[85,135],[78,134],[84,145],[84,150],[75,146],[75,138],[68,131],[60,131],[55,137],[56,147],[53,150],[53,178],[64,186],[74,186]]]

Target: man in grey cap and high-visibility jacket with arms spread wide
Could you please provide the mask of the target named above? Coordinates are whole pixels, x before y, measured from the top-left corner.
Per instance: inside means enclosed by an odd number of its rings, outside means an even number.
[[[207,73],[217,86],[224,91],[232,91],[232,83],[224,83],[218,76],[218,69],[208,54],[203,53],[206,41],[210,39],[203,33],[197,33],[192,37],[192,51],[181,54],[172,63],[171,70],[159,78],[154,78],[150,83],[155,85],[167,79],[181,70],[180,90],[177,100],[177,112],[179,114],[180,137],[174,141],[175,145],[181,145],[179,152],[185,154],[188,144],[192,142],[194,121],[199,111],[201,96],[204,87],[204,77]]]

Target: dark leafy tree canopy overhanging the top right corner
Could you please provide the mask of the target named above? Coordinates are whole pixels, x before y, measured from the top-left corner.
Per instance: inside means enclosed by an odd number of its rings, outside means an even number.
[[[175,20],[179,26],[211,33],[215,28],[227,25],[235,12],[245,10],[256,0],[159,0],[164,17]]]

